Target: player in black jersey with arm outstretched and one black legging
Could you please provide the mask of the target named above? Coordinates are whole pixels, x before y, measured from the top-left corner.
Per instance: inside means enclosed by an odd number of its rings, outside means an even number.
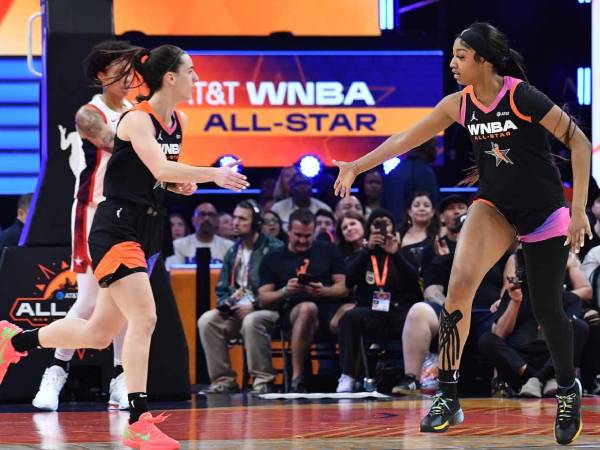
[[[463,421],[456,385],[473,296],[485,273],[518,237],[532,306],[559,383],[555,438],[568,444],[582,429],[581,385],[574,374],[572,326],[561,293],[568,246],[578,252],[585,235],[591,238],[585,214],[591,144],[570,116],[527,83],[521,56],[496,28],[472,24],[457,36],[452,51],[450,68],[464,90],[443,98],[427,117],[367,155],[353,162],[334,161],[340,169],[335,191],[349,195],[358,174],[419,146],[453,122],[467,129],[479,193],[458,240],[441,313],[441,392],[421,421],[421,431],[443,432]],[[547,131],[572,153],[570,217]]]

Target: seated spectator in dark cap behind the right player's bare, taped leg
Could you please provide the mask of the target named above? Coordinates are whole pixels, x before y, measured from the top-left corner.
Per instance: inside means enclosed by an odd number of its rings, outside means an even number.
[[[436,238],[423,251],[424,302],[414,304],[406,318],[402,332],[402,354],[404,356],[404,378],[394,387],[392,393],[410,395],[420,391],[419,376],[432,340],[439,331],[439,316],[446,300],[450,269],[454,260],[456,241],[467,211],[464,197],[454,196],[442,206],[441,218],[446,224],[447,234]],[[504,269],[508,254],[502,257],[485,275],[473,299],[469,339],[477,343],[479,336],[490,331],[494,314],[489,310],[501,295],[504,287]],[[468,352],[463,351],[463,355]],[[463,359],[464,362],[464,359]]]

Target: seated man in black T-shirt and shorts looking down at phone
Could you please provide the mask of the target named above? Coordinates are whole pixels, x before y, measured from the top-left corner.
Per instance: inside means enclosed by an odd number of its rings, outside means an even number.
[[[279,310],[291,329],[292,392],[306,392],[304,366],[319,327],[327,327],[346,297],[346,268],[337,247],[314,241],[315,219],[307,209],[290,215],[287,247],[269,253],[260,266],[259,300]]]

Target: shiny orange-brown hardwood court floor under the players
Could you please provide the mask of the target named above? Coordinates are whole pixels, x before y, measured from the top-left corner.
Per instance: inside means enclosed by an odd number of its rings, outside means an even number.
[[[153,404],[169,410],[161,428],[183,449],[558,449],[548,400],[467,399],[466,420],[444,434],[418,432],[428,400],[263,401],[197,396]],[[60,413],[0,408],[0,449],[121,449],[128,414],[101,405]],[[88,409],[76,411],[76,409]],[[96,409],[96,410],[90,410]],[[584,431],[570,448],[600,449],[600,398],[584,399]]]

